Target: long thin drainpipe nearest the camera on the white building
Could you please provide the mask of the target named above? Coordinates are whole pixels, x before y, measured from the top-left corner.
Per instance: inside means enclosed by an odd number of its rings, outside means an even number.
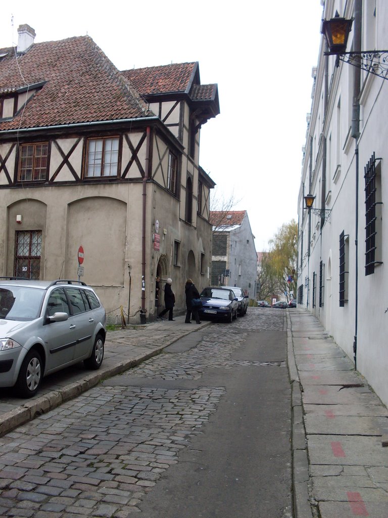
[[[361,51],[362,34],[362,0],[354,2],[354,36],[353,50]],[[354,301],[354,341],[353,358],[354,370],[357,369],[357,327],[359,308],[359,137],[360,137],[360,89],[361,89],[361,68],[353,68],[353,108],[352,108],[352,134],[355,139],[355,301]]]

